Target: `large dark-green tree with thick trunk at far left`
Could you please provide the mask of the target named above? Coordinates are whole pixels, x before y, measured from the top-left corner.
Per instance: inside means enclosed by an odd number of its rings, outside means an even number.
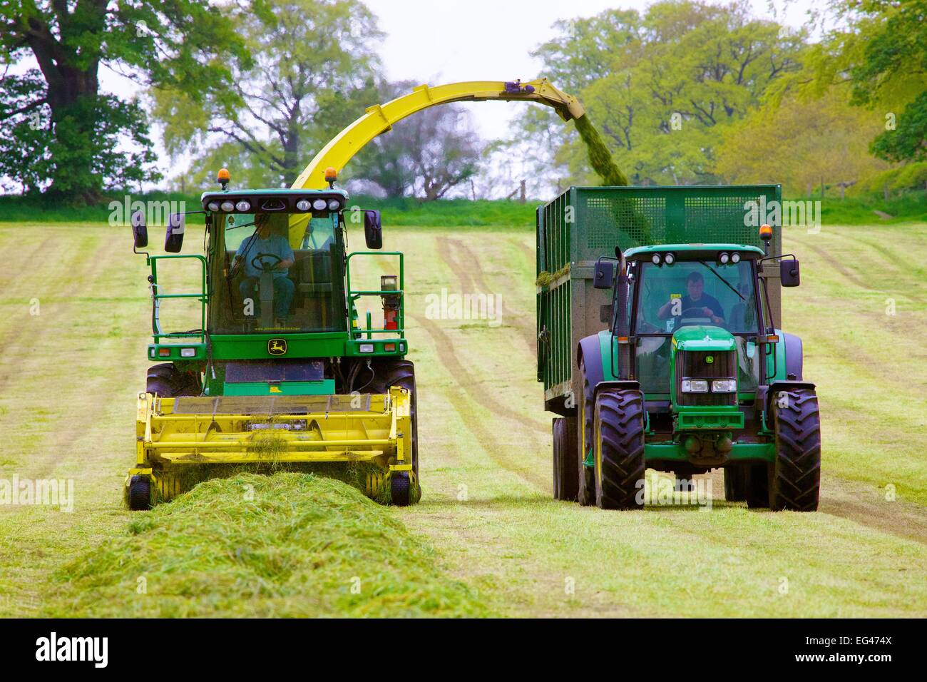
[[[3,172],[77,202],[98,200],[104,186],[154,177],[144,168],[153,159],[144,114],[137,103],[99,92],[100,66],[198,93],[222,84],[217,56],[239,45],[218,12],[195,0],[0,0],[0,64],[32,56],[39,67],[4,73]],[[142,150],[114,152],[126,136]]]

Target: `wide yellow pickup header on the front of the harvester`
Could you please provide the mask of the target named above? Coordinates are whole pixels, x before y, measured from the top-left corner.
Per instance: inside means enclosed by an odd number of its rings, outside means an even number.
[[[188,470],[203,470],[202,465],[208,470],[210,465],[352,462],[370,465],[366,487],[374,496],[390,472],[413,473],[410,400],[410,393],[398,387],[380,395],[239,396],[231,401],[139,393],[136,465],[126,484],[133,475],[150,476],[159,497],[171,499],[186,487]],[[227,409],[235,401],[268,409],[235,413]],[[190,405],[213,405],[213,410],[191,412]]]

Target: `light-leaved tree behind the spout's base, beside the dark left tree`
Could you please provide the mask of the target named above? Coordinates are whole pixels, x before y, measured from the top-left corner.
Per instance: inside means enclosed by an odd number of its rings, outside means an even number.
[[[234,142],[290,185],[327,135],[347,124],[373,93],[382,33],[359,0],[253,0],[224,19],[247,36],[253,60],[233,59],[231,89],[205,106],[171,88],[152,91],[173,154],[214,156]]]

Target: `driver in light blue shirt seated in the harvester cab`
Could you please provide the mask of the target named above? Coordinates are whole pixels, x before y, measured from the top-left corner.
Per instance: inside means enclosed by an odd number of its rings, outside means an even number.
[[[272,225],[272,217],[286,220],[286,215],[272,216],[270,213],[258,213],[254,219],[255,234],[241,242],[241,246],[235,252],[232,266],[235,267],[239,261],[245,264],[245,278],[242,279],[239,290],[241,290],[242,299],[254,301],[255,315],[260,315],[260,297],[254,294],[262,272],[255,264],[263,264],[265,269],[269,268],[273,271],[273,315],[277,320],[285,320],[289,315],[290,303],[293,302],[293,290],[296,288],[293,281],[286,275],[288,268],[296,258],[286,237],[273,230],[273,227],[277,225]],[[255,260],[259,253],[265,255]]]

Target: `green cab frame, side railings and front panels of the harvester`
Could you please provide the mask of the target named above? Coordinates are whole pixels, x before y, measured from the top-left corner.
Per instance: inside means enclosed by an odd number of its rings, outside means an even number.
[[[221,201],[226,197],[240,198],[247,195],[256,199],[264,197],[279,197],[291,199],[310,199],[313,197],[331,199],[333,196],[342,197],[347,201],[348,195],[339,190],[293,190],[293,189],[235,189],[227,192],[206,192],[202,195],[204,208],[210,200]],[[337,229],[346,230],[345,209],[337,212]],[[330,212],[335,215],[336,212]],[[206,225],[210,232],[224,230],[226,213],[218,215],[205,211]],[[289,214],[288,212],[286,214]],[[312,213],[314,215],[314,213]],[[329,214],[326,212],[326,215]],[[403,357],[408,351],[405,339],[404,325],[404,268],[403,254],[400,251],[353,251],[346,253],[341,264],[341,273],[333,277],[343,277],[345,302],[344,310],[347,319],[344,320],[346,331],[273,331],[271,333],[210,333],[208,328],[209,307],[216,295],[214,287],[210,289],[210,277],[215,269],[214,259],[222,254],[218,252],[221,240],[210,235],[209,252],[205,256],[199,254],[157,255],[147,256],[147,264],[151,267],[149,282],[152,290],[152,303],[154,315],[152,319],[153,342],[148,345],[148,359],[155,362],[172,362],[181,371],[194,370],[204,374],[204,394],[206,395],[267,395],[273,393],[325,395],[335,393],[334,380],[320,381],[283,381],[283,382],[239,382],[227,383],[224,380],[222,361],[243,360],[273,360],[290,358],[376,358],[376,357]],[[343,242],[343,238],[339,243]],[[397,290],[354,290],[351,288],[350,265],[358,257],[396,256],[399,259],[398,289]],[[197,291],[163,292],[161,290],[162,273],[159,264],[163,267],[172,261],[181,259],[196,260],[201,268],[202,277]],[[220,285],[222,282],[220,282]],[[358,302],[366,297],[393,297],[399,303],[396,328],[377,328],[372,324],[371,315],[361,319],[358,313]],[[163,331],[159,325],[159,306],[163,301],[171,299],[194,299],[201,306],[201,326],[192,331]],[[274,341],[286,341],[286,352],[271,353]],[[278,346],[281,344],[277,344]]]

